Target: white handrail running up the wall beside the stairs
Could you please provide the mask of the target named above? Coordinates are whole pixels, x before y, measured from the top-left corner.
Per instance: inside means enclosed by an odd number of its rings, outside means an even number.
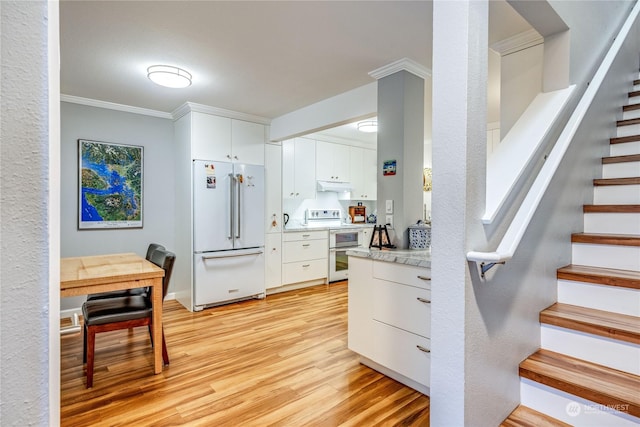
[[[631,13],[627,17],[624,25],[620,29],[617,37],[615,38],[611,48],[604,57],[602,64],[598,67],[593,79],[591,80],[589,87],[584,92],[584,95],[578,102],[576,109],[571,114],[569,121],[565,125],[562,133],[558,137],[558,141],[554,145],[553,149],[549,153],[544,165],[540,169],[538,176],[536,177],[533,185],[531,186],[526,197],[522,201],[522,204],[518,208],[516,215],[514,216],[509,228],[502,237],[497,249],[493,252],[480,252],[470,251],[467,252],[467,260],[475,263],[480,263],[481,277],[484,278],[484,274],[497,264],[504,264],[506,261],[513,257],[524,232],[529,227],[531,218],[536,212],[540,200],[544,196],[544,193],[549,187],[551,179],[558,170],[558,166],[562,161],[569,145],[574,139],[574,136],[578,130],[578,127],[582,123],[585,114],[587,113],[593,99],[595,98],[602,82],[604,81],[613,61],[615,60],[622,44],[629,35],[629,31],[633,26],[635,20],[640,13],[640,2],[636,3]]]

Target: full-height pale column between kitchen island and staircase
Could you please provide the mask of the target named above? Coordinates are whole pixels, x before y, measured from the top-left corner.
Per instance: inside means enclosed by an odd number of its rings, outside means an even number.
[[[485,425],[472,402],[477,321],[467,241],[482,241],[488,3],[433,4],[431,425]],[[471,398],[473,396],[473,398]],[[489,405],[487,410],[490,410]],[[485,411],[486,412],[486,411]]]

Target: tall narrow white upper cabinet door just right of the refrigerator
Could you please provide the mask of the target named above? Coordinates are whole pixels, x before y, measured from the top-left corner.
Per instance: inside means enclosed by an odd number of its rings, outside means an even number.
[[[282,147],[267,144],[265,147],[265,227],[267,233],[282,231]],[[275,222],[275,225],[274,225]]]

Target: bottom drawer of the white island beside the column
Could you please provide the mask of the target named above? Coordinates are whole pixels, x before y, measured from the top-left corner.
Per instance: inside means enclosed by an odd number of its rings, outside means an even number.
[[[431,375],[431,342],[402,329],[373,321],[374,361],[429,387]],[[421,348],[423,350],[421,350]]]

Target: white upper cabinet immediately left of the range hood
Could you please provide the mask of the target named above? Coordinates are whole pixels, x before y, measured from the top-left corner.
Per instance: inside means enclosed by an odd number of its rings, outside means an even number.
[[[282,142],[282,197],[316,197],[316,143],[306,138]]]

